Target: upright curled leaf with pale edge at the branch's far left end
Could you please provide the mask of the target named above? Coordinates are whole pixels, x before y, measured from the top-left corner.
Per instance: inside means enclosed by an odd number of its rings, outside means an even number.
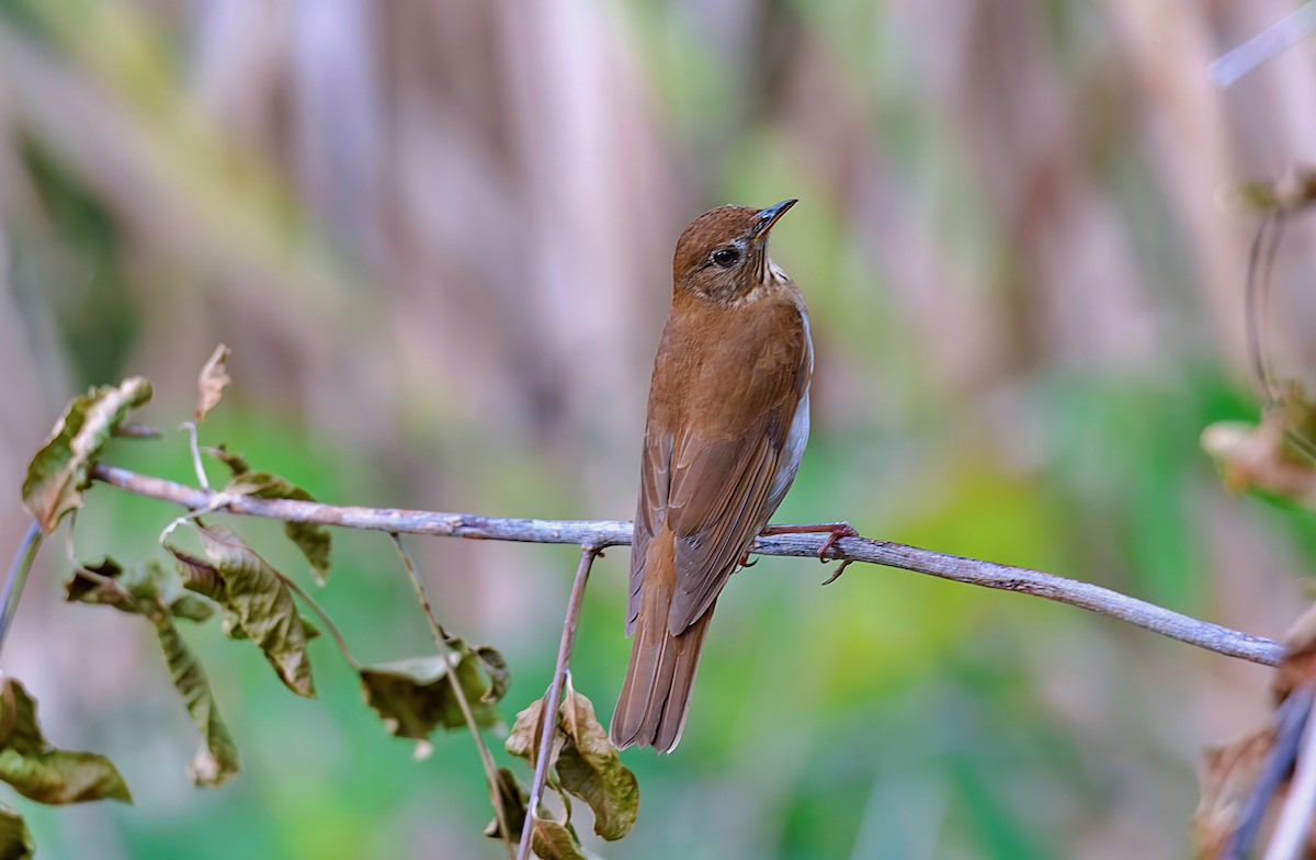
[[[118,387],[100,386],[74,398],[55,423],[50,439],[28,464],[22,503],[49,535],[61,518],[82,507],[82,491],[91,483],[91,466],[129,410],[151,399],[151,386],[141,377]]]

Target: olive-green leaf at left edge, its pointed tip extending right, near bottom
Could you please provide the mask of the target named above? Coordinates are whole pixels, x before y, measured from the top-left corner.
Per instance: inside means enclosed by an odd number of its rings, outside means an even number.
[[[36,701],[13,678],[0,689],[0,780],[39,803],[133,801],[109,759],[50,745],[37,724]]]

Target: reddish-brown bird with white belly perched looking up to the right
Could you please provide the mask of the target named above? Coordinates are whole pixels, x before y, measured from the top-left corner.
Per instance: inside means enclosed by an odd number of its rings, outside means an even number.
[[[717,595],[804,454],[809,315],[767,255],[769,230],[795,203],[719,207],[676,241],[671,313],[649,383],[626,602],[634,643],[611,730],[619,748],[667,752],[680,740]]]

